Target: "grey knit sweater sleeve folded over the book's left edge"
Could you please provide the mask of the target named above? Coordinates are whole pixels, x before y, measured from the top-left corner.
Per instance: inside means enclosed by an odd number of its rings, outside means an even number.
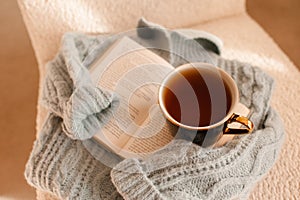
[[[110,119],[119,101],[113,92],[92,83],[85,66],[97,38],[67,34],[62,43],[61,52],[47,65],[41,103],[63,118],[70,138],[85,140]]]

